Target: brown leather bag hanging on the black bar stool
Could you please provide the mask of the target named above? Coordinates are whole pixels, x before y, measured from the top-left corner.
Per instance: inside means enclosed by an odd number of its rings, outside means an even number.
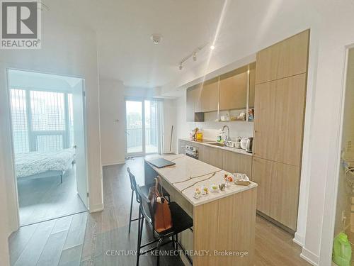
[[[159,186],[159,179],[155,178],[155,186],[149,189],[149,199],[152,202],[152,209],[154,210],[154,227],[156,232],[163,232],[172,228],[171,210],[169,201],[164,197],[161,185]],[[161,181],[160,181],[161,184]],[[159,192],[161,187],[161,192]]]

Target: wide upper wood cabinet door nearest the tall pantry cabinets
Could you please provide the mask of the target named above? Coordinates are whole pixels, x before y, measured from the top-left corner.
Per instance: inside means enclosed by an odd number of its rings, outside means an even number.
[[[248,66],[220,76],[220,110],[246,109]]]

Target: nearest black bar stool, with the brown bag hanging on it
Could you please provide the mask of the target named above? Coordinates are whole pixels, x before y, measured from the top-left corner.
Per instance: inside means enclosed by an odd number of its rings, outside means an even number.
[[[139,265],[139,257],[140,255],[147,254],[151,252],[152,250],[157,250],[157,266],[160,265],[160,255],[159,251],[162,245],[166,245],[168,243],[173,243],[176,244],[175,248],[177,249],[177,245],[183,250],[185,256],[187,257],[188,261],[190,262],[190,265],[193,264],[191,258],[189,255],[185,253],[185,249],[183,246],[178,243],[178,233],[181,233],[187,229],[192,230],[193,226],[193,219],[190,218],[190,216],[183,211],[181,206],[176,204],[176,202],[170,202],[170,210],[171,210],[171,218],[172,218],[172,228],[162,231],[162,232],[157,232],[155,230],[155,221],[154,221],[154,209],[152,207],[152,203],[149,199],[149,196],[144,194],[142,192],[142,187],[137,186],[137,195],[139,197],[140,201],[140,206],[139,206],[139,230],[138,230],[138,239],[137,239],[137,266]],[[141,219],[140,219],[141,217]],[[147,224],[149,225],[149,228],[152,230],[152,235],[154,237],[154,240],[150,241],[149,243],[145,243],[142,245],[142,230],[144,227],[144,219],[147,221]],[[176,238],[175,238],[176,237]],[[166,241],[163,243],[164,239],[167,238],[172,238],[172,240]],[[153,243],[156,243],[157,245],[154,248],[149,248],[148,250],[144,250],[141,252],[141,249],[146,247],[147,245],[152,245]]]

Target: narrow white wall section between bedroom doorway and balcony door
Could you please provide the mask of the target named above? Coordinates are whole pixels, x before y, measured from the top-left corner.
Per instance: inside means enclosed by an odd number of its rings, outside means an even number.
[[[122,82],[100,79],[101,152],[103,166],[125,162],[124,91],[125,87]]]

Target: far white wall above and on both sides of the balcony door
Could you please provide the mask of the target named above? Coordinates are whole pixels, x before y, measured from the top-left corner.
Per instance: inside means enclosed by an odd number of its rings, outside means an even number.
[[[100,79],[100,117],[102,165],[125,162],[125,98],[152,98],[154,89],[125,87],[113,79]],[[176,108],[174,101],[164,99],[163,153],[169,153],[171,126],[174,126],[172,152],[176,144]],[[119,121],[116,121],[119,120]]]

